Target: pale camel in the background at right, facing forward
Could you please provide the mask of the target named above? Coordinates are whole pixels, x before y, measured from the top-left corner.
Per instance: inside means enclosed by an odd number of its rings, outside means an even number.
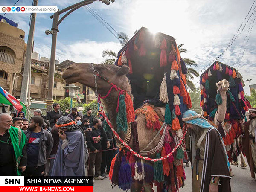
[[[221,99],[222,99],[222,103],[218,105],[217,112],[215,113],[215,116],[214,116],[214,124],[217,127],[220,123],[223,123],[224,120],[225,120],[225,114],[226,114],[226,111],[227,111],[227,90],[229,88],[229,85],[230,84],[226,79],[223,79],[223,80],[219,81],[218,83],[216,83],[217,93],[219,93],[221,95]],[[230,126],[231,126],[230,123],[226,123],[223,128],[224,128],[225,131],[228,131],[230,129]],[[239,137],[241,137],[241,136],[239,136]],[[239,142],[239,138],[236,139],[236,142]],[[227,145],[226,150],[228,151],[229,148],[230,148],[230,146]],[[240,166],[241,167],[246,167],[247,165],[244,161],[242,153],[240,155],[241,155],[241,164],[240,164]],[[234,162],[233,165],[237,165],[237,162]],[[232,173],[230,173],[230,175],[233,176]]]

